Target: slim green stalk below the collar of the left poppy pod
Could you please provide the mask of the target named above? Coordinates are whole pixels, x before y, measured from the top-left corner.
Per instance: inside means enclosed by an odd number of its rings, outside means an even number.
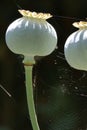
[[[32,86],[32,66],[25,65],[25,76],[26,76],[27,103],[28,103],[28,110],[29,110],[32,128],[33,130],[40,130],[37,121],[36,112],[35,112],[33,86]]]

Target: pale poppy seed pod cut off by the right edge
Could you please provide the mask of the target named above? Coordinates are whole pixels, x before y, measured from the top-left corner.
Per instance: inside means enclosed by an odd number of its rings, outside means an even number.
[[[64,45],[65,58],[69,65],[78,70],[87,70],[87,22],[75,22],[79,28],[72,33]]]

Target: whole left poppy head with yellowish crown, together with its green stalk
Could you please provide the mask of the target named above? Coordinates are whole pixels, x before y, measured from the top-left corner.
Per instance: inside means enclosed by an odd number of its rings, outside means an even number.
[[[50,14],[19,10],[22,18],[15,20],[6,31],[8,48],[16,54],[24,55],[27,104],[33,130],[40,130],[33,96],[32,69],[34,56],[49,55],[57,45],[55,29],[46,19]]]

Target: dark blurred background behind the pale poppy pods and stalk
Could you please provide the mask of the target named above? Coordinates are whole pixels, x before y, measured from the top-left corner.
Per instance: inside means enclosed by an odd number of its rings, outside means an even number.
[[[41,130],[87,129],[87,72],[71,68],[64,57],[66,38],[76,29],[72,23],[85,20],[86,0],[1,0],[0,1],[0,130],[32,130],[26,101],[23,56],[6,46],[8,25],[21,17],[19,8],[49,12],[57,31],[58,49],[46,57],[36,57],[33,83],[36,112]],[[60,18],[59,16],[71,17]],[[38,60],[40,58],[40,60]]]

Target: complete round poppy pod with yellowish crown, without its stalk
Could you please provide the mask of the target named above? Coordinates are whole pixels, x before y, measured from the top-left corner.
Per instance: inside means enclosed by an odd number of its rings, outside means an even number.
[[[23,17],[11,23],[6,31],[8,48],[24,56],[49,55],[57,45],[57,34],[46,19],[50,14],[19,10]]]

